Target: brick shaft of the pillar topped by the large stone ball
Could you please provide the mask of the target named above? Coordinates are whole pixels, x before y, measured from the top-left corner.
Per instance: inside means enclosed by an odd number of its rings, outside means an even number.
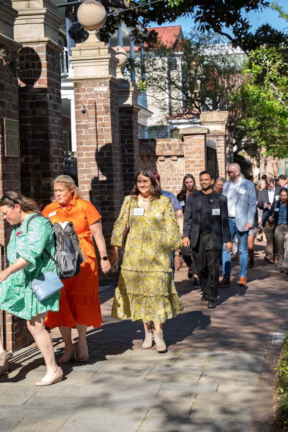
[[[116,80],[115,80],[116,81]],[[107,251],[122,205],[118,87],[112,80],[74,83],[78,185],[102,216]],[[85,107],[86,112],[82,112]],[[98,263],[100,263],[98,256]],[[117,281],[113,273],[109,283]],[[99,267],[99,282],[102,281]]]

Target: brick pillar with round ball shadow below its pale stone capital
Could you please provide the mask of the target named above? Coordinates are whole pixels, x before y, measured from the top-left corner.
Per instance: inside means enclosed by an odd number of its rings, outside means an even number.
[[[53,179],[63,174],[61,19],[50,0],[13,0],[19,18],[19,120],[22,192],[49,204]],[[30,35],[32,37],[27,37]]]

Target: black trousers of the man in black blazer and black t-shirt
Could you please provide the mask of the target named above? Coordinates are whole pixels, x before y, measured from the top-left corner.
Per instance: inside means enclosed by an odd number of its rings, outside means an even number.
[[[219,287],[219,260],[221,249],[213,246],[212,234],[200,232],[195,248],[192,248],[193,259],[198,268],[200,287],[209,300],[217,300]]]

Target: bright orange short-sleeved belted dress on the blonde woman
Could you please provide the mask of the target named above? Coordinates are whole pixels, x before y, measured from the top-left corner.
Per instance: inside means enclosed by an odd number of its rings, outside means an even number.
[[[45,325],[54,329],[64,326],[76,328],[77,324],[100,327],[102,323],[99,301],[98,265],[89,225],[101,219],[89,201],[73,199],[63,209],[58,202],[45,207],[42,214],[52,223],[73,222],[80,248],[87,261],[81,264],[77,276],[62,280],[59,312],[48,312]]]

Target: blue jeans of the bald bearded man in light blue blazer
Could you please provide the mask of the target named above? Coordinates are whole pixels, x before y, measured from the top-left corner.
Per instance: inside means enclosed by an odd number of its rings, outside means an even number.
[[[248,266],[248,233],[249,231],[238,231],[236,222],[234,218],[229,217],[229,227],[231,232],[231,239],[234,239],[235,234],[238,239],[238,248],[239,248],[239,258],[240,258],[240,268],[239,268],[239,277],[245,278],[247,274],[247,266]],[[233,240],[232,240],[233,241]],[[231,252],[227,254],[227,250],[225,251],[225,243],[223,244],[222,249],[222,265],[223,265],[223,276],[224,278],[230,279],[231,275]]]

